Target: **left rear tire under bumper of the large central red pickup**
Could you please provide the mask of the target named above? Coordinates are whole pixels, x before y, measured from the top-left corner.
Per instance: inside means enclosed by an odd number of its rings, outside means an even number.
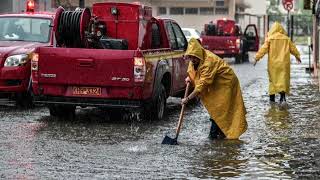
[[[73,119],[76,112],[75,106],[70,105],[57,105],[52,104],[48,106],[50,116],[58,117],[58,118],[71,118]]]

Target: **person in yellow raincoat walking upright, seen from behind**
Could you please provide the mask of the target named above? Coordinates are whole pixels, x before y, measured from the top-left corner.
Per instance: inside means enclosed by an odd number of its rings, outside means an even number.
[[[270,101],[275,102],[275,94],[280,94],[280,103],[286,101],[285,94],[290,93],[290,54],[301,63],[300,53],[283,27],[275,22],[267,38],[255,57],[256,65],[268,53],[268,75]]]

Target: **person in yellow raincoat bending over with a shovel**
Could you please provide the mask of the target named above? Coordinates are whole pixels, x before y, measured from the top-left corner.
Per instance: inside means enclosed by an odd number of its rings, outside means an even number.
[[[237,76],[224,60],[194,38],[189,41],[185,58],[191,60],[186,82],[191,82],[194,90],[181,103],[200,97],[212,122],[209,138],[238,139],[247,130],[247,121]]]

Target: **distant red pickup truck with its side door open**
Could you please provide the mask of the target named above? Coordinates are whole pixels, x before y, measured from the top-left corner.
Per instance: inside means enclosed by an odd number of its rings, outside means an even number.
[[[234,20],[221,19],[214,24],[205,24],[201,35],[204,48],[220,57],[234,57],[236,63],[249,61],[248,51],[258,51],[259,35],[254,24],[249,24],[244,33]]]

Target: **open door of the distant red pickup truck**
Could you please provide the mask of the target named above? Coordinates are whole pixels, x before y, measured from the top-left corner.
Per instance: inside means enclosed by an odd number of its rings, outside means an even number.
[[[257,27],[254,24],[249,24],[244,31],[245,47],[247,51],[258,51],[259,35]]]

